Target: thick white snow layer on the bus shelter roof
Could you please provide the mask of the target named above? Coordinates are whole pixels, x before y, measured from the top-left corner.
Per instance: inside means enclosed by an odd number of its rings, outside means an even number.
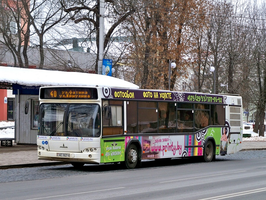
[[[80,72],[50,71],[0,66],[0,82],[24,86],[96,86],[139,88],[115,77]]]

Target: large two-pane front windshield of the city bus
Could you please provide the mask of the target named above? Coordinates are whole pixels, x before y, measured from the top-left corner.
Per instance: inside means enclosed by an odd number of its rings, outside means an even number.
[[[39,135],[100,136],[100,106],[97,104],[41,104]]]

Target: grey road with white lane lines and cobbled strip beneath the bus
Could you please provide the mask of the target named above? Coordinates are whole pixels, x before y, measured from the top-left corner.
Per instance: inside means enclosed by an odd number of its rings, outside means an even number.
[[[1,199],[265,199],[266,150],[217,156],[216,162],[172,159],[119,164],[0,170]]]

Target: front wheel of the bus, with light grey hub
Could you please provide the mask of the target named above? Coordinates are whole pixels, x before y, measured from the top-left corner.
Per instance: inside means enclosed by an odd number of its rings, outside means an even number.
[[[131,144],[125,155],[124,165],[128,169],[134,169],[139,161],[138,149],[135,144]]]

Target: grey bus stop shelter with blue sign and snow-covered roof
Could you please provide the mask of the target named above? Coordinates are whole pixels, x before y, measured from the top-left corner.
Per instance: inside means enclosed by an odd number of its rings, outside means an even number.
[[[0,89],[12,89],[15,95],[15,137],[17,144],[36,144],[38,133],[39,88],[41,86],[103,86],[139,88],[110,76],[0,66]],[[29,114],[24,114],[29,100]],[[11,142],[12,143],[12,142]]]

